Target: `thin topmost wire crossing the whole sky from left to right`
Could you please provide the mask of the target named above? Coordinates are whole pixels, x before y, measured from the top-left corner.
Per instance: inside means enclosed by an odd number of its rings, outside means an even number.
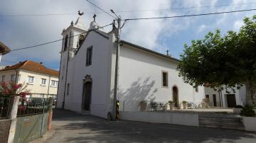
[[[117,11],[116,13],[132,13],[132,12],[144,12],[144,11],[170,11],[170,10],[183,10],[183,9],[192,9],[192,8],[210,8],[210,7],[221,7],[221,6],[240,6],[247,4],[256,4],[256,3],[243,3],[243,4],[222,4],[215,6],[192,6],[192,7],[171,7],[171,8],[159,8],[159,9],[142,9],[142,10],[131,10],[131,11]],[[110,12],[84,12],[85,14],[101,14]],[[78,13],[26,13],[26,14],[2,14],[0,17],[18,17],[18,16],[65,16],[65,15],[77,15]]]

